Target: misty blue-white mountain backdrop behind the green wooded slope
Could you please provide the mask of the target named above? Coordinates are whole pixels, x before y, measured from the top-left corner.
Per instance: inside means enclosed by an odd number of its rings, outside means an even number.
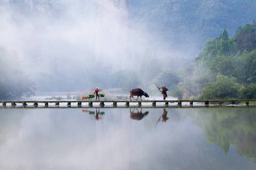
[[[224,28],[234,35],[255,8],[253,0],[0,0],[0,64],[9,70],[1,95],[17,93],[6,88],[17,77],[41,92],[147,88]]]

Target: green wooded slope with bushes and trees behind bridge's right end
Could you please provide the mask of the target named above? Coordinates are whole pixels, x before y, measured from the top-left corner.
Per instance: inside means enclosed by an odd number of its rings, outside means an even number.
[[[174,91],[180,98],[255,99],[256,21],[239,27],[234,37],[224,29],[219,37],[207,41],[181,77]]]

